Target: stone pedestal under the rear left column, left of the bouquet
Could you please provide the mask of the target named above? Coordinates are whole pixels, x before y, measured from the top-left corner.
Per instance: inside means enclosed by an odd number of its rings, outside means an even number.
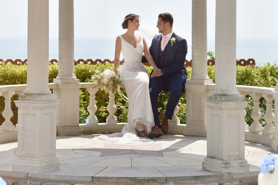
[[[54,79],[53,82],[56,82]],[[78,80],[79,82],[79,80]],[[61,100],[57,107],[57,135],[80,135],[79,126],[79,88],[81,84],[58,84],[53,89],[57,99]]]

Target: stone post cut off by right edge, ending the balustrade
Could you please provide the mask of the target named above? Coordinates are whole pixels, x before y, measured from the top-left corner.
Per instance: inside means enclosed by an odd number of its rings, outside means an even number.
[[[275,116],[275,134],[273,136],[273,140],[272,140],[272,150],[274,150],[275,152],[278,152],[278,84],[276,84],[276,87],[274,88],[275,90],[272,91],[272,95],[274,98],[274,102],[275,102],[275,110],[274,110],[274,116]]]

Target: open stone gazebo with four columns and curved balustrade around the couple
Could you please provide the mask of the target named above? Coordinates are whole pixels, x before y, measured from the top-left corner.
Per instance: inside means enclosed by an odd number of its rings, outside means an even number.
[[[245,159],[246,147],[253,145],[245,146],[245,140],[261,143],[268,146],[268,150],[271,150],[270,147],[272,147],[272,150],[278,151],[278,130],[271,124],[274,120],[272,100],[276,100],[276,107],[278,84],[275,89],[236,85],[236,0],[216,0],[216,80],[213,84],[213,80],[209,79],[207,74],[206,3],[206,0],[192,0],[192,76],[186,82],[187,124],[179,124],[179,118],[174,116],[169,123],[169,133],[181,134],[179,137],[184,139],[185,142],[186,138],[188,140],[195,138],[197,141],[198,138],[205,140],[204,137],[207,137],[207,142],[205,142],[207,146],[206,157],[202,159],[202,167],[200,166],[200,173],[205,175],[203,179],[208,178],[206,175],[214,175],[213,178],[218,178],[217,182],[220,183],[223,181],[219,179],[230,179],[230,182],[233,181],[231,180],[233,178],[256,179],[259,171],[258,167],[248,164],[249,161],[247,162]],[[92,83],[79,83],[74,75],[73,0],[59,0],[59,74],[52,84],[48,84],[48,14],[48,0],[28,0],[27,85],[0,88],[0,93],[6,99],[6,112],[3,112],[5,118],[12,116],[8,104],[11,96],[24,90],[24,93],[19,95],[19,101],[16,102],[16,106],[19,108],[17,157],[12,162],[12,169],[1,169],[0,167],[0,175],[2,173],[4,176],[13,177],[13,179],[16,179],[18,174],[26,174],[24,178],[28,179],[29,173],[31,173],[30,178],[32,180],[34,178],[52,179],[56,172],[56,175],[62,173],[61,170],[63,171],[63,169],[59,170],[60,162],[56,156],[56,142],[58,142],[56,135],[65,136],[58,137],[62,140],[70,139],[67,136],[72,135],[74,138],[76,137],[74,135],[90,133],[92,130],[95,130],[94,133],[113,133],[120,131],[125,125],[124,123],[117,123],[114,116],[116,106],[113,94],[109,94],[108,111],[110,114],[106,123],[98,123],[94,115],[97,110],[95,93],[98,89],[93,88]],[[49,88],[53,88],[53,94]],[[79,125],[80,88],[87,88],[91,101],[88,107],[90,116],[86,120],[86,124],[81,125]],[[244,121],[246,114],[244,108],[247,106],[247,102],[244,101],[246,94],[250,94],[254,98],[254,110],[252,112],[254,123],[249,128]],[[259,124],[261,115],[259,112],[259,98],[262,96],[267,101],[267,113],[264,116],[267,125],[264,128]],[[178,110],[177,107],[175,113]],[[276,115],[277,110],[275,109]],[[277,123],[277,117],[275,117],[275,122]],[[2,124],[3,133],[15,131],[15,127],[10,121],[5,121]],[[186,136],[182,136],[182,134]],[[170,145],[168,149],[176,148],[181,153],[187,150],[183,148],[185,146],[177,148],[180,145],[173,144],[171,140],[173,138],[178,138],[178,136],[167,136],[165,143],[162,142],[161,145]],[[166,142],[170,142],[170,144]],[[173,146],[171,146],[171,143]],[[96,143],[93,144],[96,145]],[[61,144],[59,144],[60,146]],[[73,144],[72,147],[77,146]],[[82,150],[81,146],[78,147]],[[111,146],[109,147],[111,149]],[[119,146],[117,147],[119,149]],[[142,147],[144,148],[144,146]],[[130,148],[127,147],[126,149]],[[200,149],[205,150],[205,147],[200,146]],[[72,151],[74,150],[76,149],[72,149]],[[191,148],[191,150],[193,149]],[[198,148],[195,147],[194,150],[198,150]],[[262,154],[266,154],[267,151],[266,149],[258,150],[262,151]],[[94,151],[100,150],[95,149]],[[177,151],[167,150],[167,152]],[[82,154],[85,155],[84,152]],[[176,156],[176,153],[172,156]],[[197,156],[198,154],[195,154],[193,157],[196,158]],[[119,168],[115,167],[114,170],[117,171]],[[96,167],[95,169],[99,168]],[[144,168],[141,170],[144,171]],[[76,173],[78,174],[78,172]],[[111,172],[111,174],[112,178],[113,173]],[[141,181],[138,180],[140,178],[143,179],[142,182],[148,180],[148,176],[143,178],[140,174],[138,175],[134,176],[135,179],[137,178],[134,182],[140,183]],[[186,174],[183,176],[186,176]],[[108,176],[105,177],[108,178]],[[125,178],[125,176],[115,174],[114,177],[118,177],[120,180]],[[159,174],[156,177],[160,177]],[[103,180],[93,175],[91,178],[93,181],[94,179],[95,181]],[[166,175],[163,178],[164,180],[171,179]],[[116,179],[116,181],[120,182],[119,179]],[[57,181],[58,179],[54,178],[54,180]],[[62,177],[60,179],[63,182],[69,182],[69,180]],[[89,180],[84,181],[88,183]],[[202,177],[199,177],[199,180],[201,182]],[[185,182],[186,180],[181,181]],[[75,179],[74,182],[79,181]],[[169,181],[165,180],[165,182]]]

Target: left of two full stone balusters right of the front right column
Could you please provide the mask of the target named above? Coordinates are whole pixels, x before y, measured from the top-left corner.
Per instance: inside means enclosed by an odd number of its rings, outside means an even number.
[[[262,117],[259,108],[259,100],[262,97],[260,93],[252,93],[251,97],[253,98],[253,111],[251,113],[251,117],[253,118],[253,123],[249,127],[249,132],[262,132],[262,125],[259,122],[259,119]]]

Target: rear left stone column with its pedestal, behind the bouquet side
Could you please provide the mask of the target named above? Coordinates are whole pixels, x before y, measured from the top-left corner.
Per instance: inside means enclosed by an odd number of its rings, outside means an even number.
[[[74,75],[74,1],[59,0],[59,74],[53,89],[61,103],[57,109],[57,135],[81,134],[79,79]]]

